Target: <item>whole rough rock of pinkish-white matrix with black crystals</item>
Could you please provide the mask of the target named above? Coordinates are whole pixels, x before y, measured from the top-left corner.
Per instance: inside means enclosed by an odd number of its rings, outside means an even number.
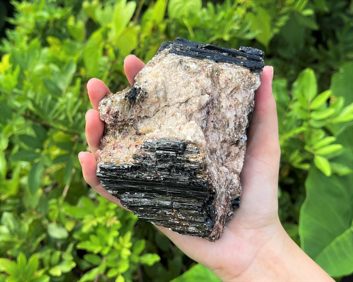
[[[177,38],[99,105],[102,186],[140,219],[215,241],[240,204],[263,51]]]

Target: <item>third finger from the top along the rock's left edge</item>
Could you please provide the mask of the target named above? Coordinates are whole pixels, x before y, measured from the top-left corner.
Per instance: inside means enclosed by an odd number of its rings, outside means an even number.
[[[104,122],[100,120],[99,112],[93,109],[88,110],[86,112],[86,140],[92,154],[95,154],[100,147],[103,130]]]

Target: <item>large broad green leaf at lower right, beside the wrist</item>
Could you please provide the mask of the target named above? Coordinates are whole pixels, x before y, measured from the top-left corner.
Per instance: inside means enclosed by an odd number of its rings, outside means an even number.
[[[353,175],[322,177],[312,168],[305,181],[300,209],[302,249],[330,275],[353,272]]]

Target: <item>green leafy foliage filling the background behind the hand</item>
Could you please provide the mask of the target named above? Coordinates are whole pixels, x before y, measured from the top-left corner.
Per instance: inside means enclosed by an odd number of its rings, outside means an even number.
[[[193,265],[151,225],[97,197],[77,160],[87,148],[85,82],[120,90],[126,55],[148,61],[177,36],[265,50],[276,75],[280,219],[329,274],[353,272],[352,4],[12,4],[15,28],[0,45],[0,280],[164,282]],[[175,281],[202,279],[195,273],[212,279],[194,266]]]

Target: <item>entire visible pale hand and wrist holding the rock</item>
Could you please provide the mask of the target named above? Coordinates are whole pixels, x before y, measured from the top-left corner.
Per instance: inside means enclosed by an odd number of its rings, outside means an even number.
[[[144,67],[137,57],[124,61],[130,84]],[[255,93],[255,109],[247,131],[246,155],[241,172],[241,206],[222,237],[215,243],[157,227],[180,250],[207,266],[222,281],[334,281],[309,258],[283,229],[278,217],[277,181],[280,162],[276,103],[272,94],[273,68],[265,66]],[[96,177],[96,151],[104,123],[98,103],[110,91],[98,79],[87,83],[93,109],[86,113],[86,139],[91,152],[79,153],[86,182],[98,194],[120,205]]]

